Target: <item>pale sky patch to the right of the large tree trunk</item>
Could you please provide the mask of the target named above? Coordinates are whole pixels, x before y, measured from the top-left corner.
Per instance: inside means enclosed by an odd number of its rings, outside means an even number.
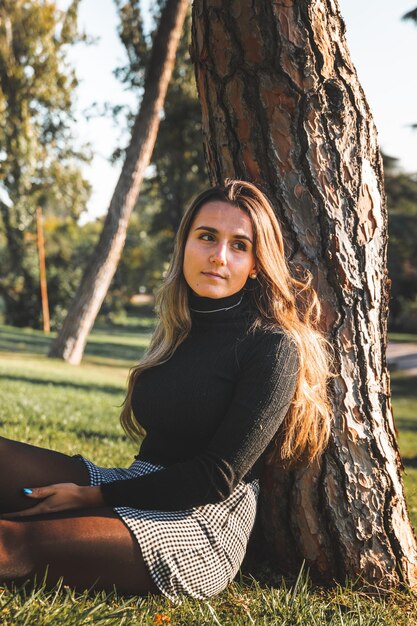
[[[417,172],[417,25],[402,16],[417,0],[339,0],[346,37],[371,106],[379,143]]]

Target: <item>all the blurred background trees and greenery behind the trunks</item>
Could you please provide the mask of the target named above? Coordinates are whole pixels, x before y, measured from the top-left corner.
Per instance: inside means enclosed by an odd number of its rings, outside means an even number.
[[[115,28],[126,61],[114,73],[123,88],[140,100],[152,45],[149,20],[157,19],[162,3],[146,10],[140,0],[116,0],[115,4]],[[24,11],[19,8],[23,5]],[[78,0],[66,10],[36,0],[23,5],[6,2],[1,9],[0,322],[41,328],[35,219],[36,207],[41,206],[49,306],[52,329],[56,329],[65,318],[104,219],[83,219],[92,191],[83,165],[91,160],[92,151],[71,132],[78,79],[70,52],[80,43],[88,52],[94,41],[79,28]],[[24,63],[16,63],[8,45],[11,26]],[[152,306],[182,212],[188,200],[208,184],[189,43],[190,16],[152,163],[101,309],[101,321],[127,323],[146,295]],[[114,103],[96,105],[89,114],[110,116],[126,131],[134,119],[129,107]],[[119,145],[112,160],[118,164],[123,157],[124,145]],[[417,332],[417,174],[403,171],[393,156],[384,155],[384,164],[392,280],[389,327]]]

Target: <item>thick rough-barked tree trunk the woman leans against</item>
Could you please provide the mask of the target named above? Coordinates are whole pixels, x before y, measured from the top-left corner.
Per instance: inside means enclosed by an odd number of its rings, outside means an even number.
[[[192,52],[213,183],[265,185],[333,342],[321,467],[268,467],[261,519],[284,572],[415,587],[385,356],[387,214],[372,116],[336,0],[195,0]],[[314,356],[312,355],[314,358]]]

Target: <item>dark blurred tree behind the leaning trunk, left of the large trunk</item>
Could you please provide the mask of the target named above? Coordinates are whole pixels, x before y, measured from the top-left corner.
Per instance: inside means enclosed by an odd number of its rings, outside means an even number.
[[[143,86],[138,81],[137,68],[146,61],[149,53],[144,51],[143,45],[138,45],[139,42],[134,46],[136,30],[132,31],[132,16],[129,13],[121,16],[122,23],[128,18],[121,38],[128,51],[129,66],[119,68],[117,75],[129,89],[140,92]],[[200,103],[189,55],[190,43],[189,9],[151,167],[142,183],[123,255],[111,286],[112,292],[125,295],[125,301],[140,287],[151,292],[160,285],[183,211],[190,198],[209,184],[201,140]],[[118,152],[115,157],[119,157]]]

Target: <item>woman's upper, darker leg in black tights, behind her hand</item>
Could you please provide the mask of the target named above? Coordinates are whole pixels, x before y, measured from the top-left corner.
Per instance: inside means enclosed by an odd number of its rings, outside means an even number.
[[[80,459],[0,437],[0,514],[34,505],[22,495],[23,487],[68,482],[89,484],[88,470]]]

